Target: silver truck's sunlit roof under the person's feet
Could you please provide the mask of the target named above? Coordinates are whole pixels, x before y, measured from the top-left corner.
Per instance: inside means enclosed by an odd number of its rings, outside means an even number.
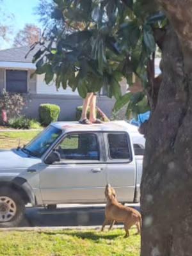
[[[129,131],[138,132],[138,127],[125,121],[112,121],[103,124],[84,125],[79,122],[56,122],[54,127],[65,131]]]

